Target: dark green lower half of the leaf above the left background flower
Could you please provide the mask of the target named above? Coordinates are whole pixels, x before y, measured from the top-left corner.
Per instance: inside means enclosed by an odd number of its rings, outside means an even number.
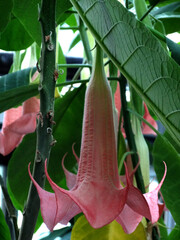
[[[0,112],[4,112],[9,108],[17,106],[31,98],[38,95],[38,84],[18,87],[0,94]]]

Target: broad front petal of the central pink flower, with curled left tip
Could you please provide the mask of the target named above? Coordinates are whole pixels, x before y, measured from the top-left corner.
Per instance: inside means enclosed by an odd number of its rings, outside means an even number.
[[[49,177],[45,165],[47,179],[56,196],[67,194],[79,206],[87,220],[94,228],[100,228],[112,222],[123,209],[127,189],[114,188],[112,183],[105,185],[104,181],[83,181],[71,191],[57,186]]]

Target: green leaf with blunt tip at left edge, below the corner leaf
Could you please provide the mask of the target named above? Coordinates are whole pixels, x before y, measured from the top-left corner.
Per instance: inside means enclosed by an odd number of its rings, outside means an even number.
[[[7,51],[19,51],[29,47],[33,43],[24,26],[17,18],[11,19],[0,38],[0,49]]]

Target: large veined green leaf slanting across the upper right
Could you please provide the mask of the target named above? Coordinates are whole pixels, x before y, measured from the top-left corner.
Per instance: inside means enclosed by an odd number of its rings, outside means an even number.
[[[180,144],[180,67],[117,0],[71,0],[99,45]]]

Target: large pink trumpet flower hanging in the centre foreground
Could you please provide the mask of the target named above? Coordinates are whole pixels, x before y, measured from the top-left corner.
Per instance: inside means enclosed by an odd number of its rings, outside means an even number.
[[[77,176],[65,170],[69,191],[51,180],[46,164],[45,174],[54,193],[42,189],[33,179],[30,166],[28,168],[39,194],[43,220],[51,231],[58,222],[66,224],[80,212],[93,228],[100,228],[115,220],[126,202],[138,214],[151,217],[140,191],[129,185],[130,181],[124,188],[120,184],[112,96],[99,47],[85,95],[80,159],[75,157],[79,161]]]

